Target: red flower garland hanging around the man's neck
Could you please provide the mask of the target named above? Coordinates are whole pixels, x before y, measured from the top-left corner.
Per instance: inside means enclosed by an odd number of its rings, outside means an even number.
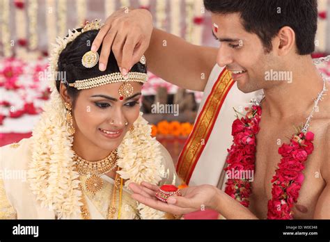
[[[254,172],[256,162],[256,134],[260,130],[261,107],[253,105],[245,108],[244,118],[233,122],[233,145],[228,150],[226,162],[228,171]],[[297,202],[301,184],[304,181],[304,161],[313,152],[312,132],[299,132],[290,139],[290,144],[283,144],[278,148],[282,159],[278,163],[276,174],[272,179],[272,200],[268,201],[268,219],[292,219],[292,207]],[[251,173],[249,173],[251,174]],[[233,176],[233,175],[232,175]],[[233,177],[232,177],[233,178]],[[249,179],[228,179],[225,192],[249,207],[251,195],[251,181]]]

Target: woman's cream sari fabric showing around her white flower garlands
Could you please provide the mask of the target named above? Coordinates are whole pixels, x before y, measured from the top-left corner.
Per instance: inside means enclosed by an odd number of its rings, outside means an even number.
[[[2,196],[6,195],[6,200],[15,209],[17,219],[54,219],[56,218],[54,211],[41,206],[40,201],[36,200],[36,195],[31,191],[29,181],[27,181],[27,171],[29,170],[29,163],[31,163],[32,159],[32,141],[33,137],[24,138],[19,141],[17,147],[15,145],[0,147],[0,181],[3,181],[3,190],[6,193],[0,193],[0,201],[3,199]],[[165,170],[168,172],[167,176],[160,181],[160,184],[173,183],[178,185],[180,181],[176,179],[178,175],[175,173],[171,156],[161,144],[159,145],[161,147],[162,157],[164,157],[163,164]],[[102,176],[102,178],[113,184],[113,179],[107,176]],[[0,182],[1,184],[2,182]],[[124,191],[130,193],[126,188],[124,188]],[[104,219],[102,214],[97,211],[93,202],[87,196],[85,196],[85,199],[88,210],[91,213],[91,218]],[[3,206],[4,204],[0,203],[0,219]],[[123,216],[123,218],[126,218],[126,216]],[[80,213],[73,214],[70,216],[70,219],[81,219],[81,215]]]

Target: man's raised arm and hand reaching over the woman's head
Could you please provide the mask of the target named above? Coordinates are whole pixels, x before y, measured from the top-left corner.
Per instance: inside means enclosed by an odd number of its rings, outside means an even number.
[[[217,63],[217,48],[191,45],[182,38],[152,27],[152,15],[144,9],[120,9],[107,18],[92,44],[102,45],[100,70],[110,51],[125,75],[146,55],[148,70],[181,88],[203,91]]]

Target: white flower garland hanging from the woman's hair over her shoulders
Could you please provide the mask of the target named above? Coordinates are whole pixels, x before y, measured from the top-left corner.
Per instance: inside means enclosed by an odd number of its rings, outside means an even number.
[[[65,49],[81,32],[70,31],[68,37],[56,39],[54,54],[50,58],[49,71],[52,95],[45,105],[40,122],[33,130],[32,161],[29,164],[28,180],[31,191],[41,206],[54,210],[58,218],[72,218],[80,213],[82,203],[79,190],[79,173],[74,171],[72,142],[66,129],[65,106],[56,90],[54,76],[58,71],[57,61]],[[148,181],[159,184],[165,174],[159,143],[150,136],[151,127],[141,117],[134,122],[134,131],[125,135],[118,147],[118,172],[127,179],[125,186],[132,181]],[[164,218],[165,213],[139,204],[141,218]]]

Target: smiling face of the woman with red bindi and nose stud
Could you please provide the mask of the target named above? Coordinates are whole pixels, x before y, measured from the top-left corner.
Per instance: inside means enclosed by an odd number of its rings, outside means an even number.
[[[86,139],[102,150],[114,150],[120,145],[140,111],[142,85],[129,83],[134,92],[123,102],[118,94],[123,83],[81,90],[73,110],[74,139]]]

